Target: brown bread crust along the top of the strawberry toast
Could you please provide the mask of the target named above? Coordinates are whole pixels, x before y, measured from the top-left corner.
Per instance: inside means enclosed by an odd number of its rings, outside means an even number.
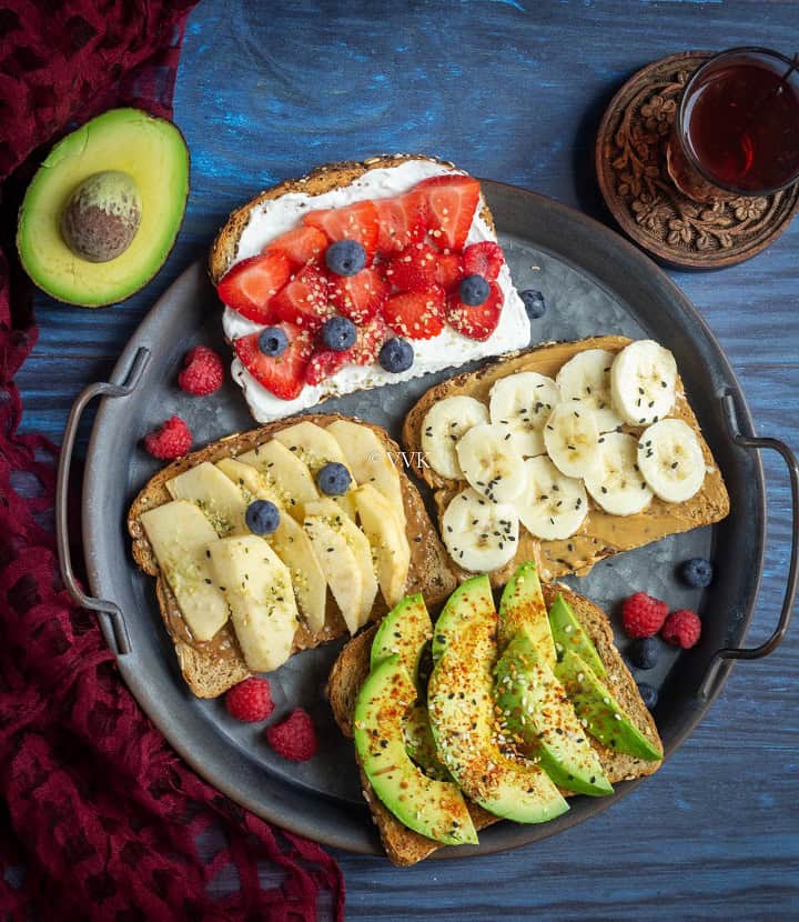
[[[443,167],[448,167],[453,170],[457,169],[454,163],[449,163],[447,160],[441,160],[437,157],[429,157],[423,153],[381,154],[378,157],[370,157],[366,160],[343,160],[338,163],[325,163],[303,177],[283,180],[277,186],[259,192],[249,202],[231,212],[224,227],[216,234],[209,257],[211,281],[216,284],[233,264],[239,241],[244,232],[244,228],[250,221],[253,209],[256,209],[271,199],[279,199],[287,192],[304,192],[307,196],[322,196],[332,189],[348,186],[368,170],[398,167],[408,160],[428,160],[432,163],[441,163]],[[481,214],[488,226],[494,229],[494,220],[487,206],[483,208]]]

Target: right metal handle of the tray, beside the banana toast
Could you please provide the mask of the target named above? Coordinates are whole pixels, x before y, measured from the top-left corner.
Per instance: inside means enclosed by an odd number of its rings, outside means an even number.
[[[761,657],[768,657],[782,642],[786,635],[788,624],[793,611],[793,602],[797,597],[797,588],[799,587],[799,463],[793,452],[785,442],[779,439],[761,439],[755,435],[744,435],[738,425],[738,414],[735,407],[735,394],[728,390],[721,397],[721,402],[727,415],[727,429],[729,430],[732,441],[746,449],[771,449],[782,455],[788,465],[788,477],[791,487],[791,554],[790,563],[788,565],[788,580],[786,582],[786,591],[782,598],[782,610],[780,611],[779,621],[771,637],[760,644],[760,647],[728,647],[717,650],[710,661],[707,675],[699,687],[700,698],[710,698],[716,688],[716,681],[719,669],[725,660],[757,660]]]

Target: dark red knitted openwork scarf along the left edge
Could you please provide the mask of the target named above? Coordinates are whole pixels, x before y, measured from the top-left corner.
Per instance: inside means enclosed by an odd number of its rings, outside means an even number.
[[[58,449],[17,432],[13,377],[37,327],[14,260],[16,191],[53,140],[103,109],[129,104],[170,117],[191,7],[0,7],[3,918],[343,919],[333,859],[201,781],[141,712],[93,615],[60,581],[51,529]]]

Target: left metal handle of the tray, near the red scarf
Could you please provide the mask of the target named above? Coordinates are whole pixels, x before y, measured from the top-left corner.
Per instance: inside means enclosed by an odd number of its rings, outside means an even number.
[[[55,538],[58,541],[59,564],[61,567],[61,578],[67,587],[70,595],[82,605],[84,609],[104,614],[111,622],[111,635],[113,643],[111,644],[117,655],[124,655],[131,651],[130,635],[128,633],[128,625],[125,624],[124,615],[115,602],[110,602],[105,599],[94,599],[87,595],[78,584],[78,581],[72,570],[72,557],[69,549],[69,521],[68,521],[68,500],[69,500],[69,474],[72,463],[72,451],[74,449],[75,434],[78,433],[78,424],[83,414],[83,410],[90,400],[95,397],[127,397],[133,391],[141,381],[144,369],[150,361],[150,350],[145,347],[140,347],[133,357],[133,363],[121,383],[113,381],[99,382],[90,384],[78,397],[72,404],[72,409],[67,421],[67,429],[64,430],[63,442],[61,444],[61,457],[59,458],[58,481],[55,491]]]

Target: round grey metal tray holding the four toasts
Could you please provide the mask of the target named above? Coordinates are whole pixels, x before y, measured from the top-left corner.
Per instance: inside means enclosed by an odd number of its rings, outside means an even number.
[[[727,482],[731,513],[724,522],[613,558],[588,577],[572,580],[615,622],[621,595],[631,588],[667,599],[674,608],[690,607],[704,613],[699,645],[679,655],[671,653],[655,674],[647,674],[647,681],[660,691],[655,718],[668,755],[701,719],[727,677],[729,660],[715,654],[720,648],[741,643],[755,610],[765,542],[763,474],[757,452],[741,444],[748,440],[740,437],[736,443],[730,435],[730,425],[751,434],[749,411],[704,320],[648,258],[601,224],[542,196],[495,182],[484,182],[483,188],[517,288],[539,289],[546,298],[546,315],[533,322],[533,343],[621,333],[651,337],[667,345],[677,358],[702,432]],[[224,353],[219,321],[219,301],[204,269],[200,263],[192,265],[131,339],[114,371],[114,383],[93,385],[78,400],[64,437],[62,488],[80,413],[92,397],[105,394],[92,431],[83,483],[83,544],[91,591],[98,598],[82,595],[72,578],[62,489],[59,525],[64,578],[84,604],[105,612],[101,627],[119,653],[122,677],[154,723],[202,776],[242,805],[293,832],[327,845],[381,853],[361,796],[352,744],[342,738],[324,699],[325,680],[341,643],[299,654],[270,677],[275,716],[301,704],[311,712],[320,734],[320,750],[313,760],[300,765],[286,763],[269,749],[262,730],[230,719],[220,700],[201,701],[189,692],[161,622],[154,580],[141,573],[131,557],[127,510],[158,468],[141,449],[142,434],[173,412],[188,421],[198,445],[253,425],[232,383],[205,399],[188,397],[175,384],[181,357],[191,345],[202,342]],[[407,410],[427,388],[451,373],[352,394],[322,407],[380,423],[397,439]],[[792,461],[789,453],[786,458]],[[426,488],[421,489],[429,500]],[[692,555],[715,561],[717,577],[709,590],[688,590],[675,579],[675,564]],[[770,647],[763,645],[758,654],[768,652],[767,647],[772,649],[785,630],[796,572],[791,577],[778,631]],[[617,640],[624,648],[624,638]],[[497,823],[481,833],[478,846],[442,849],[436,855],[487,853],[544,839],[605,810],[635,783],[618,784],[610,798],[575,798],[568,813],[543,825]],[[657,784],[657,776],[647,783]]]

